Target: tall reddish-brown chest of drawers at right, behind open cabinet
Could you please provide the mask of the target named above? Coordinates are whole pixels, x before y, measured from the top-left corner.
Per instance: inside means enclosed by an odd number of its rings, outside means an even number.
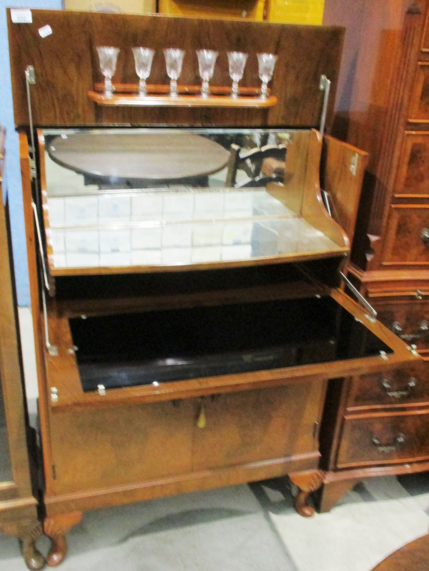
[[[427,0],[325,2],[346,25],[335,135],[369,152],[349,277],[392,332],[429,357]],[[334,386],[335,385],[335,386]],[[429,469],[429,367],[332,383],[321,509],[362,478]],[[333,407],[337,403],[338,416]],[[374,444],[366,448],[367,436]]]

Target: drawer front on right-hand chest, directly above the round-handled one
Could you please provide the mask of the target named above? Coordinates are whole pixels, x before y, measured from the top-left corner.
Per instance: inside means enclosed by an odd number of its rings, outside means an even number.
[[[429,131],[404,136],[395,195],[429,195]]]

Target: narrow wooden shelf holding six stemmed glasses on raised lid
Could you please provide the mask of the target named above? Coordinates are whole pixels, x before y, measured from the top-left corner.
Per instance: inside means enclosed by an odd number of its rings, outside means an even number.
[[[111,97],[103,94],[103,84],[96,83],[94,91],[88,91],[88,97],[98,105],[131,107],[250,107],[266,108],[277,104],[277,97],[269,94],[262,99],[258,87],[241,87],[237,99],[230,96],[230,87],[211,86],[211,94],[201,97],[199,85],[179,85],[179,95],[171,97],[168,85],[148,85],[148,95],[138,94],[134,84],[114,84],[115,93]]]

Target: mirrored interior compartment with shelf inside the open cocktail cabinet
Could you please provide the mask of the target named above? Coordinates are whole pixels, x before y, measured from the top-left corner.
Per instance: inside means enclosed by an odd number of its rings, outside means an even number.
[[[310,134],[43,130],[51,270],[341,252],[302,216]]]

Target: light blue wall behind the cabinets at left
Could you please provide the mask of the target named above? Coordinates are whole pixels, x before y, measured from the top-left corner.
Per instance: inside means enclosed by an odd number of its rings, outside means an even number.
[[[21,173],[18,137],[15,133],[12,90],[10,85],[9,49],[7,45],[6,7],[60,9],[62,0],[0,0],[0,124],[7,129],[4,187],[9,198],[10,223],[14,252],[15,279],[19,305],[30,305],[29,275],[22,209]],[[23,24],[25,25],[25,24]]]

